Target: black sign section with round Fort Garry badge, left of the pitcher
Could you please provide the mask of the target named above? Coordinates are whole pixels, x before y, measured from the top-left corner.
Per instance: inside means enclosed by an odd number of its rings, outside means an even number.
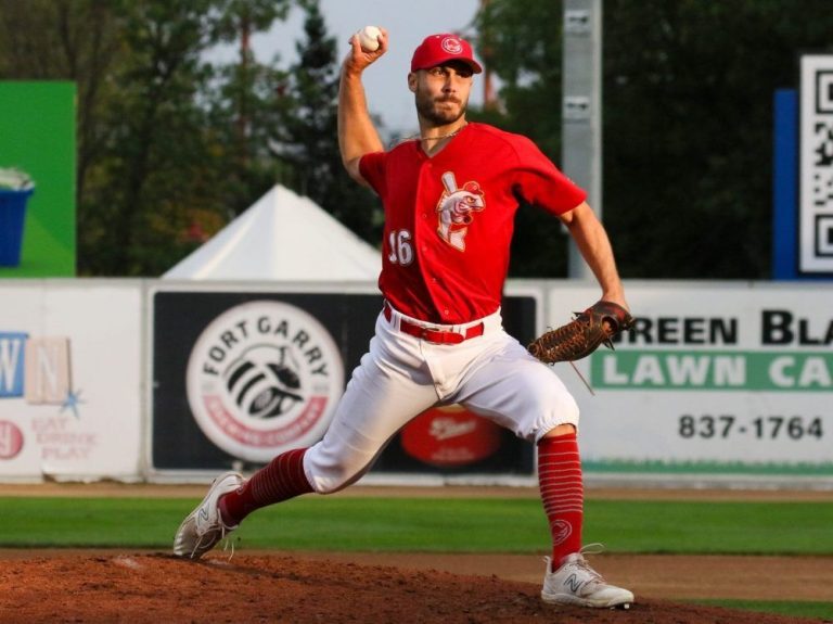
[[[323,434],[377,296],[153,293],[152,463],[260,466]]]

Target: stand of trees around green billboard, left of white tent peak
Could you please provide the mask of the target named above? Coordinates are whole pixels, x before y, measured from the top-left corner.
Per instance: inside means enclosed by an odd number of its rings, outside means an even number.
[[[0,0],[2,77],[79,85],[82,275],[159,275],[201,242],[200,230],[218,229],[271,186],[269,164],[245,157],[257,142],[242,122],[274,100],[264,91],[282,74],[245,55],[236,72],[217,68],[205,53],[268,28],[289,3]],[[229,115],[217,93],[233,98]],[[244,131],[230,137],[230,127]]]

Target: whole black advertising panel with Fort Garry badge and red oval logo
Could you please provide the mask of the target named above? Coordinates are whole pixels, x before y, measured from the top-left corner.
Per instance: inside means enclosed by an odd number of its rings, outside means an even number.
[[[321,438],[367,353],[373,293],[158,290],[153,301],[156,470],[251,469]],[[531,336],[536,306],[504,319]],[[531,447],[460,406],[428,410],[379,458],[381,472],[533,471]]]

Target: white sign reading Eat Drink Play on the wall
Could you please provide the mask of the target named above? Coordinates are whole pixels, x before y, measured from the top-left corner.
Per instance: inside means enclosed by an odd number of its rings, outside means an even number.
[[[140,285],[15,280],[2,301],[0,479],[137,479]]]

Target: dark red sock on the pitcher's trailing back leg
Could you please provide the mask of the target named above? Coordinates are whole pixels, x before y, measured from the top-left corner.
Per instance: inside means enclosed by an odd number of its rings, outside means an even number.
[[[306,453],[306,448],[298,448],[279,455],[239,489],[220,498],[222,521],[229,526],[236,526],[256,509],[312,492],[304,474]]]

